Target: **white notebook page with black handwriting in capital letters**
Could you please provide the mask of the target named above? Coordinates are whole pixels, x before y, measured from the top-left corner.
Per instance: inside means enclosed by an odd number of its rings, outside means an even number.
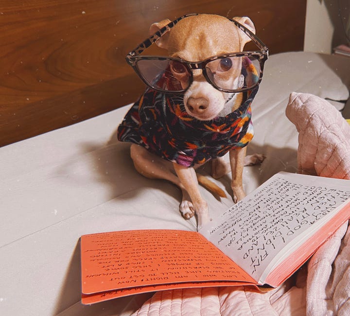
[[[349,180],[283,172],[199,232],[260,280],[281,249],[293,249],[293,240],[323,225],[349,198]]]

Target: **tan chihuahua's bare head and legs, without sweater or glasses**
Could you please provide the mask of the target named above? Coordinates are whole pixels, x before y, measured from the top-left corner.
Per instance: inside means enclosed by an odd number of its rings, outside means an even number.
[[[253,22],[249,18],[234,19],[255,33]],[[167,19],[154,23],[150,28],[150,33],[154,34],[169,22],[171,21]],[[156,43],[159,47],[168,50],[171,57],[196,62],[214,55],[242,52],[245,43],[248,41],[250,41],[250,38],[240,32],[235,24],[227,18],[216,15],[197,15],[180,20],[171,31],[160,37]],[[225,61],[217,62],[221,63],[217,67],[227,70],[225,77],[221,79],[221,86],[225,87],[226,85],[229,89],[239,87],[241,85],[241,66],[232,67],[232,65],[225,65]],[[182,70],[176,69],[176,65],[172,67],[174,68],[172,70],[174,75],[181,82]],[[228,100],[229,102],[227,102]],[[217,116],[225,116],[237,109],[241,101],[242,93],[232,94],[219,91],[207,82],[200,69],[193,70],[192,85],[184,94],[186,111],[192,117],[201,121],[209,121]],[[229,151],[229,163],[225,162],[223,158],[216,158],[212,161],[212,176],[214,178],[223,176],[231,169],[231,187],[234,202],[245,196],[242,182],[244,165],[255,164],[263,159],[262,155],[255,155],[254,157],[245,157],[245,155],[246,147],[243,147],[242,149]],[[202,176],[197,179],[192,167],[188,168],[164,160],[138,144],[131,145],[131,158],[141,175],[169,180],[182,190],[183,199],[180,204],[180,211],[185,218],[190,218],[196,213],[198,229],[210,221],[208,204],[198,188],[198,179],[204,185],[208,185],[208,181]],[[221,196],[225,195],[222,191],[217,191],[217,193]]]

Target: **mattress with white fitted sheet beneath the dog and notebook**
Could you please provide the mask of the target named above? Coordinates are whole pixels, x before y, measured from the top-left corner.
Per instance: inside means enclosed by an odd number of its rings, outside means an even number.
[[[255,136],[245,167],[247,193],[279,171],[297,172],[297,131],[285,116],[289,94],[312,93],[338,110],[349,99],[350,58],[305,52],[271,55],[252,104]],[[135,96],[135,100],[138,96]],[[98,105],[97,105],[98,106]],[[0,314],[130,315],[153,293],[82,305],[79,238],[83,234],[169,228],[195,230],[179,212],[181,192],[138,174],[116,129],[130,105],[0,148]],[[350,117],[349,117],[350,118]],[[208,168],[202,174],[210,177]],[[230,176],[217,199],[200,188],[210,216],[232,204]]]

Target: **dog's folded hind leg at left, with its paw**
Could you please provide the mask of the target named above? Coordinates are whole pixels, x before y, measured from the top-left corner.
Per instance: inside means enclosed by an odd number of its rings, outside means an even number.
[[[189,219],[194,215],[194,207],[189,193],[182,185],[180,179],[175,175],[173,163],[151,154],[148,150],[137,144],[130,147],[130,155],[133,159],[135,169],[150,179],[164,179],[174,183],[182,192],[180,211]]]

